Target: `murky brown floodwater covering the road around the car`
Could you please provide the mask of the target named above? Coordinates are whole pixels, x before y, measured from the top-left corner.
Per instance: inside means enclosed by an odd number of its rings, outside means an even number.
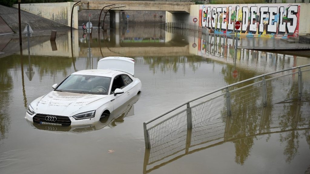
[[[237,111],[225,136],[184,141],[197,146],[145,150],[143,122],[228,84],[310,63],[310,58],[208,44],[199,34],[154,26],[81,30],[5,39],[0,48],[0,173],[305,173],[310,171],[310,104],[291,101]],[[195,37],[193,37],[195,36]],[[0,37],[1,38],[1,37]],[[221,38],[213,41],[221,42]],[[229,43],[229,41],[226,41]],[[30,102],[102,57],[135,59],[142,93],[100,122],[79,127],[32,124]],[[263,119],[258,119],[261,117]],[[262,120],[262,121],[260,121]],[[220,126],[202,128],[216,134]],[[210,127],[211,126],[211,127]]]

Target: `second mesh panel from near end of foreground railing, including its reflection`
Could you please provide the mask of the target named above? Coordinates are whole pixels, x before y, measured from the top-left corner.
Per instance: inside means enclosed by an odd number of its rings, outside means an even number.
[[[222,138],[226,117],[226,94],[192,107],[191,146]]]

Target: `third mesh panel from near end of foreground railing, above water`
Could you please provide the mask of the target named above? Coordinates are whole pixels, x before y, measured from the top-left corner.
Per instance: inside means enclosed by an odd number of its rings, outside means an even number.
[[[230,91],[232,115],[244,107],[261,107],[263,95],[262,91],[262,81]]]

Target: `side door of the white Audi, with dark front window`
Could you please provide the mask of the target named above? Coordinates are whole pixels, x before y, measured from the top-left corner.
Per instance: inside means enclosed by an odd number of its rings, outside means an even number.
[[[123,94],[117,94],[114,96],[114,91],[115,89],[122,89],[124,91]],[[122,75],[115,76],[112,82],[111,86],[111,92],[110,94],[113,95],[112,97],[114,98],[113,105],[114,105],[114,110],[120,107],[122,104],[124,104],[126,101],[130,99],[130,86],[128,86],[127,83],[124,83],[124,80],[122,78]]]

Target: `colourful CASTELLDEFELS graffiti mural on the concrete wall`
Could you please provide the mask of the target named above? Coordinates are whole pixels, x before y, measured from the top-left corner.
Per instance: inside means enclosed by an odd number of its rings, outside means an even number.
[[[298,33],[300,4],[201,5],[199,25],[210,33],[230,34],[236,20],[238,33],[286,35]]]

